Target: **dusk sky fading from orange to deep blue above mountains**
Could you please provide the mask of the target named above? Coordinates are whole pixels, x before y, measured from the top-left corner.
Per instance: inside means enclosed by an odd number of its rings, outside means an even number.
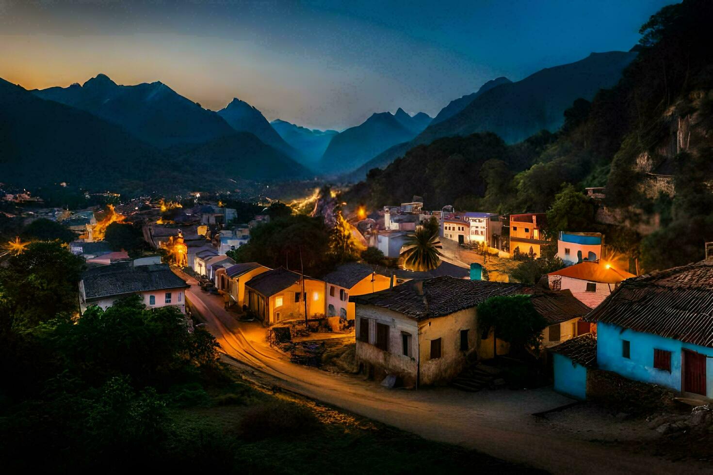
[[[672,0],[0,0],[0,78],[25,88],[160,80],[203,107],[237,97],[342,130],[401,107],[434,117],[504,75],[627,51]]]

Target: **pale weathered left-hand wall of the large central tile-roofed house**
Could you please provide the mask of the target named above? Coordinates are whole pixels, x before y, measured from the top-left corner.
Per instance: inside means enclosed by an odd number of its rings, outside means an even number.
[[[369,319],[368,341],[361,341],[361,319]],[[388,350],[376,348],[376,323],[389,325]],[[356,306],[356,362],[369,367],[374,379],[381,380],[387,374],[401,378],[405,386],[416,385],[419,355],[419,326],[416,320],[403,313],[370,305]],[[403,354],[402,333],[411,335],[411,356]]]

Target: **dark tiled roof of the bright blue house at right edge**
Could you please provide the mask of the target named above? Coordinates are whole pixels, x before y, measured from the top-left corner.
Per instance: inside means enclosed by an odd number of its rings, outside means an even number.
[[[586,320],[713,348],[713,261],[627,279]]]

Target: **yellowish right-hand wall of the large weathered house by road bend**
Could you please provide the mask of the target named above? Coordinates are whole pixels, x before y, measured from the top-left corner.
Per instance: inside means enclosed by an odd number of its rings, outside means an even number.
[[[461,330],[468,330],[468,350],[461,351]],[[466,308],[419,322],[419,385],[448,382],[463,370],[466,355],[478,343],[476,309]],[[431,359],[431,341],[441,338],[441,357]]]

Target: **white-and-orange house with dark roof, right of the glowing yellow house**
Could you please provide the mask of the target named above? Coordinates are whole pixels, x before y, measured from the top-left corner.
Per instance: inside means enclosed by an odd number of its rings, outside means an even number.
[[[337,267],[322,280],[327,283],[327,316],[354,320],[354,303],[349,301],[349,296],[383,291],[394,286],[396,276],[376,273],[371,266],[350,262]]]

